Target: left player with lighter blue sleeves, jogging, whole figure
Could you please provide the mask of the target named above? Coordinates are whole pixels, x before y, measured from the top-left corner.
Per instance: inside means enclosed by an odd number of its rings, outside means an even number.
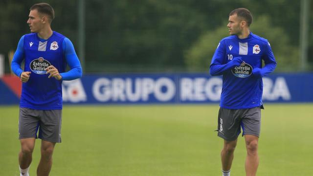
[[[12,60],[12,70],[22,81],[19,115],[21,176],[29,176],[38,131],[42,143],[37,176],[49,175],[55,144],[61,142],[62,81],[82,76],[73,44],[62,34],[52,31],[53,19],[54,10],[49,4],[31,6],[27,21],[31,33],[22,36]],[[70,70],[66,72],[67,65]]]

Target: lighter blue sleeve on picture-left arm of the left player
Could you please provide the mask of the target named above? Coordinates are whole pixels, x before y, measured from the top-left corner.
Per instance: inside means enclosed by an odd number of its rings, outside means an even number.
[[[20,77],[23,70],[21,69],[21,63],[24,59],[24,36],[21,37],[18,48],[16,49],[13,60],[11,63],[11,70]]]

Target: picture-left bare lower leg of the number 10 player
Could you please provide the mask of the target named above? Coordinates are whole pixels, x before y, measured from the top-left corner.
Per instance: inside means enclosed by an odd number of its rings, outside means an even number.
[[[224,140],[224,148],[221,152],[222,169],[223,171],[229,171],[234,158],[234,151],[237,145],[237,139],[234,141]]]

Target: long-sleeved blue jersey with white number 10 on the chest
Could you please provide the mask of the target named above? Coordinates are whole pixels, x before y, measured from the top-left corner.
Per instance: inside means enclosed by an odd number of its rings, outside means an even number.
[[[212,76],[223,75],[220,106],[226,109],[263,106],[262,77],[275,67],[275,57],[266,39],[252,32],[246,39],[237,35],[222,39],[210,65]]]

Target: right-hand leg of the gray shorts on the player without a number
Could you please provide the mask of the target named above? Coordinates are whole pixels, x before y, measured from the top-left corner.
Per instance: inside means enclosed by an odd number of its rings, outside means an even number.
[[[43,110],[40,120],[38,137],[49,142],[61,142],[62,110]]]

